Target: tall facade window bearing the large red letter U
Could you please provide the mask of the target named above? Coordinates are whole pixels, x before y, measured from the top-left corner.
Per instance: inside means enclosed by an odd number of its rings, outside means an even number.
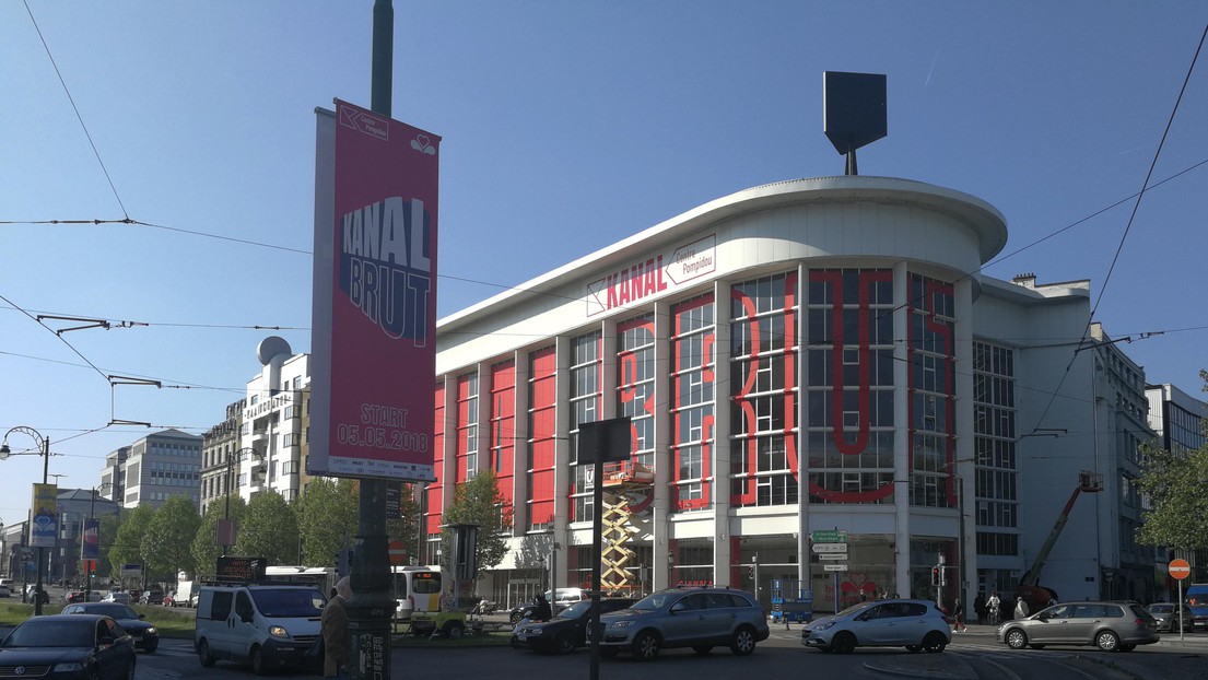
[[[812,269],[807,296],[809,500],[892,504],[893,272]]]

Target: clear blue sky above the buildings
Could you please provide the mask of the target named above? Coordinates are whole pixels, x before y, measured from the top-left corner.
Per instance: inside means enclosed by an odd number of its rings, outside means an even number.
[[[0,429],[51,437],[62,486],[97,484],[149,431],[219,422],[265,336],[309,350],[313,111],[368,106],[372,5],[0,4],[0,295],[147,324],[68,347],[0,302]],[[1208,56],[1151,184],[1183,174],[1121,239],[1206,23],[1198,0],[396,0],[394,117],[443,138],[440,313],[710,199],[842,174],[821,74],[878,72],[889,136],[860,173],[989,202],[1014,255],[987,274],[1090,279],[1109,333],[1165,331],[1121,345],[1149,380],[1200,396]],[[127,216],[157,227],[33,223]],[[111,396],[103,374],[165,388]],[[115,418],[155,428],[83,434]],[[37,457],[0,463],[0,518],[24,519],[40,477]]]

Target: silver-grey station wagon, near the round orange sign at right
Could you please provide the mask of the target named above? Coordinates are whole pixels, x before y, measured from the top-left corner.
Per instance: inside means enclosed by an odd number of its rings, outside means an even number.
[[[1012,650],[1046,645],[1094,645],[1128,652],[1158,640],[1157,621],[1137,603],[1074,601],[1056,604],[998,627],[997,638]]]

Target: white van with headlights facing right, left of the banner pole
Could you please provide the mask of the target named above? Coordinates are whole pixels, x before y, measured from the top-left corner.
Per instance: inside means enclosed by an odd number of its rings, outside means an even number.
[[[202,586],[193,646],[202,666],[250,663],[261,675],[306,664],[327,598],[313,586]]]

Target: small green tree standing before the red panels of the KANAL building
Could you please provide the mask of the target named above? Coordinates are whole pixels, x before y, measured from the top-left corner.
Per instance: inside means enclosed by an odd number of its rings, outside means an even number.
[[[499,480],[489,467],[480,470],[467,482],[458,484],[453,505],[445,512],[446,524],[477,524],[478,547],[475,580],[482,579],[487,569],[495,566],[507,554],[506,533],[512,528],[512,507],[499,490]],[[441,533],[442,559],[448,564],[453,554],[453,531]]]

